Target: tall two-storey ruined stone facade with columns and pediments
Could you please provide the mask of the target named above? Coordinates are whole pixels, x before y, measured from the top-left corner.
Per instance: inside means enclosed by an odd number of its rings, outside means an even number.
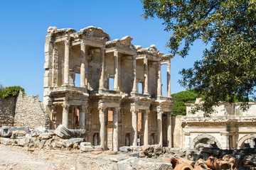
[[[105,149],[171,147],[173,55],[155,45],[132,45],[129,36],[110,41],[93,26],[78,32],[48,28],[45,55],[43,105],[51,129],[60,124],[86,129],[87,141]],[[167,64],[167,97],[161,94],[162,64]]]

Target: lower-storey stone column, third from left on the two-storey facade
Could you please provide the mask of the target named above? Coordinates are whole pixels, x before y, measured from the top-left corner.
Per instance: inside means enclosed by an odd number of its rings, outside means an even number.
[[[105,149],[105,108],[103,106],[99,107],[99,117],[100,117],[100,145]]]

